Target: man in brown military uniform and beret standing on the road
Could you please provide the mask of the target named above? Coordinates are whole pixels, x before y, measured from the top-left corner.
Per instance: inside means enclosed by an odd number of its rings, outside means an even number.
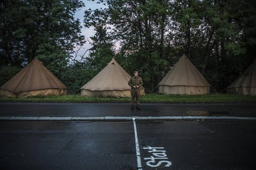
[[[138,76],[138,71],[134,71],[130,80],[128,81],[129,86],[131,86],[131,96],[132,96],[132,107],[134,109],[135,97],[136,97],[136,109],[140,110],[140,87],[143,85],[141,77]]]

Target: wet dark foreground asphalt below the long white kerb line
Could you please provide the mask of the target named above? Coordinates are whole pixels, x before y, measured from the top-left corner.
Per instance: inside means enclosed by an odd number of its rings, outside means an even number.
[[[0,167],[138,169],[139,149],[143,170],[255,169],[255,120],[136,121],[135,127],[138,148],[133,122],[2,120]]]

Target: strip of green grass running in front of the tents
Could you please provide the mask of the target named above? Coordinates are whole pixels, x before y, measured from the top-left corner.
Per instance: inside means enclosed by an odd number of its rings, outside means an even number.
[[[0,102],[130,102],[130,98],[87,97],[80,95],[34,96],[26,98],[0,97]],[[141,102],[256,102],[256,96],[233,94],[160,95],[148,94]]]

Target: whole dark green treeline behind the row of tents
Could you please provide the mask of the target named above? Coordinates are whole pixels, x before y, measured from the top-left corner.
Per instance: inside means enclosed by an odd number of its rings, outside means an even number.
[[[130,75],[154,89],[183,53],[218,91],[254,60],[254,0],[100,0],[107,8],[85,11],[95,35],[89,56],[72,60],[85,43],[74,18],[79,0],[0,2],[1,85],[37,57],[76,91],[115,58]],[[120,44],[120,48],[116,45]]]

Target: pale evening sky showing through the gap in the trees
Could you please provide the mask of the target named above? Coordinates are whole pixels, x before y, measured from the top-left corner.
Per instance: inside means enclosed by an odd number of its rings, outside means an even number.
[[[106,6],[104,6],[103,4],[97,4],[97,0],[95,1],[87,1],[87,0],[82,0],[85,4],[85,7],[84,8],[81,8],[79,11],[76,12],[75,14],[75,19],[78,18],[80,19],[80,23],[81,23],[81,26],[83,26],[81,32],[82,32],[82,35],[84,35],[85,39],[90,39],[90,37],[92,37],[94,35],[94,30],[93,30],[93,27],[90,27],[90,28],[85,28],[84,27],[84,11],[91,8],[92,10],[95,10],[97,8],[105,8]],[[83,55],[85,53],[85,51],[89,48],[91,48],[92,46],[89,44],[88,41],[86,41],[86,43],[84,44],[83,48],[81,48],[77,55]],[[78,48],[74,48],[74,51],[77,51]],[[87,51],[85,53],[85,56],[88,56],[89,54],[89,51]],[[75,57],[75,53],[73,54],[73,56]],[[73,57],[73,58],[74,58]],[[80,60],[81,57],[76,57],[76,59]]]

